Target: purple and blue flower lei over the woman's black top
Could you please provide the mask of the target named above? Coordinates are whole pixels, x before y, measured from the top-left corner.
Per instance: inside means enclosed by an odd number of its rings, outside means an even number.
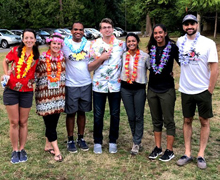
[[[168,44],[166,45],[166,47],[163,49],[163,54],[161,56],[160,64],[158,66],[156,65],[156,46],[154,46],[154,45],[151,46],[150,51],[151,51],[150,63],[153,68],[153,71],[155,72],[155,74],[161,74],[161,72],[162,72],[164,66],[166,65],[166,63],[169,59],[169,56],[170,56],[169,53],[171,51],[171,42],[169,41]]]

